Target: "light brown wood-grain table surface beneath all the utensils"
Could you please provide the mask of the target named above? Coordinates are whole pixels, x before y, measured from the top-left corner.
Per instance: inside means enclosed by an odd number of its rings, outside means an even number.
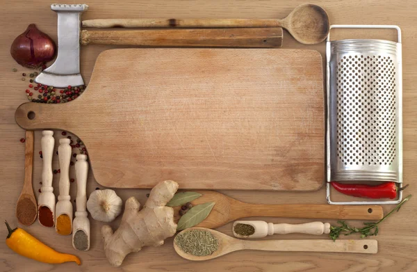
[[[65,2],[65,1],[64,1]],[[15,217],[15,205],[22,189],[24,177],[24,144],[19,139],[24,137],[24,130],[15,124],[15,109],[27,101],[24,90],[28,85],[22,81],[22,72],[28,69],[17,65],[10,57],[10,45],[14,38],[24,32],[26,26],[36,23],[40,30],[56,40],[56,14],[49,9],[49,1],[5,1],[1,0],[0,29],[0,83],[2,89],[0,103],[0,218],[8,220],[10,225],[18,225]],[[70,1],[70,3],[77,3]],[[236,17],[236,18],[281,18],[288,15],[296,6],[305,3],[300,0],[260,0],[260,1],[88,1],[90,10],[84,13],[83,19],[93,18],[192,18],[192,17]],[[332,24],[398,24],[402,29],[403,42],[403,77],[404,77],[404,184],[410,184],[408,193],[417,193],[417,181],[414,179],[417,151],[416,102],[417,92],[417,1],[393,0],[351,0],[351,1],[316,1],[327,10]],[[348,31],[343,38],[370,37],[395,38],[392,31]],[[334,35],[336,36],[336,35]],[[377,37],[379,36],[379,37]],[[110,46],[90,45],[81,49],[81,73],[88,83],[92,67],[98,54]],[[284,48],[316,49],[325,56],[325,43],[305,46],[297,44],[288,33],[284,33]],[[13,68],[18,72],[13,72]],[[103,90],[111,99],[117,99],[117,93],[123,90],[108,88]],[[68,113],[77,114],[77,113]],[[54,118],[54,116],[51,116]],[[60,131],[56,131],[60,136]],[[42,159],[40,151],[41,132],[35,132],[35,158],[33,170],[33,186],[36,195],[40,189]],[[60,136],[62,137],[62,136]],[[59,137],[58,137],[59,138]],[[58,143],[58,140],[56,140]],[[108,143],[111,145],[112,143]],[[106,148],[106,147],[104,147]],[[109,158],[111,159],[111,158]],[[54,157],[54,168],[58,168],[57,156]],[[71,170],[74,177],[74,168]],[[54,175],[55,190],[58,190],[58,175]],[[96,187],[103,188],[95,182],[92,173],[88,177],[88,194]],[[126,200],[136,196],[142,204],[149,190],[117,190]],[[316,192],[259,192],[259,191],[224,191],[238,200],[253,203],[325,203],[325,189]],[[71,188],[72,199],[76,195],[76,186]],[[417,198],[417,196],[416,196]],[[385,212],[392,207],[384,207]],[[241,251],[231,253],[208,262],[189,262],[174,253],[172,238],[165,241],[159,248],[143,248],[139,253],[131,253],[119,269],[111,267],[104,257],[100,228],[102,223],[90,218],[91,247],[88,252],[77,252],[72,248],[71,237],[62,237],[54,230],[41,227],[35,222],[25,230],[47,243],[47,245],[65,253],[76,254],[81,258],[82,265],[74,263],[60,265],[42,264],[21,257],[10,250],[6,239],[6,226],[0,227],[0,272],[3,271],[417,271],[417,199],[411,199],[404,205],[400,213],[393,214],[382,226],[376,239],[379,242],[379,253],[376,255],[358,255],[342,253],[273,253],[257,251]],[[265,219],[265,218],[263,218]],[[306,220],[286,218],[268,218],[273,223],[304,223]],[[335,221],[329,221],[336,223]],[[115,228],[120,218],[111,223]],[[354,223],[354,221],[350,221]],[[357,222],[357,225],[360,222]],[[354,223],[355,224],[355,223]],[[19,225],[19,227],[22,227]],[[221,232],[231,234],[231,224],[220,227]],[[306,239],[305,235],[288,235],[273,237],[274,239]],[[313,237],[317,239],[320,237]],[[326,238],[327,237],[321,237]]]

